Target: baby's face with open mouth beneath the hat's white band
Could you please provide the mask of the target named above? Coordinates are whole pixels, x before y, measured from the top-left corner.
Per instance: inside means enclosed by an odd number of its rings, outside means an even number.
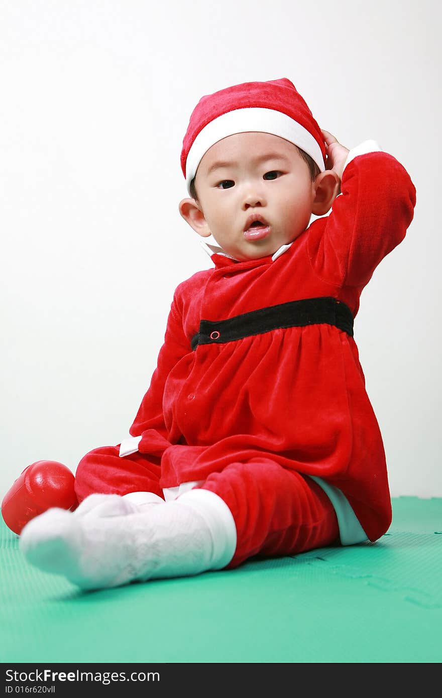
[[[309,225],[315,196],[309,166],[279,136],[223,138],[202,157],[195,184],[210,232],[237,260],[272,255]]]

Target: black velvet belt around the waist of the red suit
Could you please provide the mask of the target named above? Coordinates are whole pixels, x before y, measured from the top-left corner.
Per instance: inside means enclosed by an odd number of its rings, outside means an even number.
[[[260,308],[219,322],[201,320],[200,332],[192,337],[191,347],[194,351],[198,344],[223,344],[253,334],[271,332],[279,327],[304,327],[323,322],[334,325],[353,337],[353,314],[350,308],[336,298],[325,296]]]

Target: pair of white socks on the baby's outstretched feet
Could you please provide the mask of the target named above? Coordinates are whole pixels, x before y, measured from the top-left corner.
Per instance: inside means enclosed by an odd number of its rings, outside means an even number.
[[[32,519],[20,535],[29,563],[84,589],[219,570],[235,548],[228,506],[202,489],[142,512],[126,497],[91,495],[75,512]]]

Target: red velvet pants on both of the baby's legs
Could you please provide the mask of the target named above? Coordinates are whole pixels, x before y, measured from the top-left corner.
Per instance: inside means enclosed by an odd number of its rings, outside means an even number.
[[[78,464],[78,501],[96,492],[148,491],[163,497],[160,460],[138,452],[120,458],[117,446],[96,448]],[[235,520],[237,547],[228,567],[252,556],[287,556],[339,544],[337,517],[321,487],[270,459],[231,463],[200,487],[221,497]]]

